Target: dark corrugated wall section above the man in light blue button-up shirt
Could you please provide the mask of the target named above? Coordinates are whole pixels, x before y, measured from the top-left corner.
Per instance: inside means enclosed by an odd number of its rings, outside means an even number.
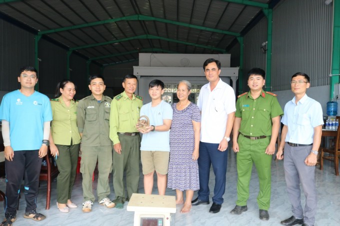
[[[329,85],[333,4],[285,0],[274,9],[272,90],[290,89],[290,77],[304,72],[311,86]]]

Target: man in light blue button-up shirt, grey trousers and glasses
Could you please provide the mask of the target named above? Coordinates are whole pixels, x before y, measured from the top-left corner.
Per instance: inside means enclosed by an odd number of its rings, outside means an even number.
[[[296,73],[291,77],[291,91],[295,94],[284,106],[281,122],[281,142],[276,158],[283,159],[284,176],[293,215],[281,225],[313,226],[316,214],[316,188],[314,171],[322,133],[321,105],[307,96],[309,76]],[[284,146],[284,147],[283,147]],[[305,195],[304,210],[301,206],[300,183]]]

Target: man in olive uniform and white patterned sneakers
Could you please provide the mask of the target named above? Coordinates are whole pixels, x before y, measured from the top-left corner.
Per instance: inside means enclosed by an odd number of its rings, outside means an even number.
[[[108,136],[112,99],[102,95],[105,84],[100,75],[89,77],[88,88],[92,94],[80,100],[77,107],[77,126],[81,136],[82,212],[90,212],[95,199],[92,193],[92,175],[97,161],[99,204],[107,208],[115,206],[108,199],[108,175],[112,171],[112,142]]]

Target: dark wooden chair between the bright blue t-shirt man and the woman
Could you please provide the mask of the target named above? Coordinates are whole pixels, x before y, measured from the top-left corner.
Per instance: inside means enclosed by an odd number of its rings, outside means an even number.
[[[58,168],[54,166],[53,157],[50,154],[49,147],[44,159],[46,160],[46,166],[41,166],[39,181],[47,181],[46,210],[49,210],[51,182],[58,175],[59,171]]]

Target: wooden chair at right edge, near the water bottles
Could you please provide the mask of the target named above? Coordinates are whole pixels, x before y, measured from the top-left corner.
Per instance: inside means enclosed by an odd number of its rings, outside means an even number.
[[[336,119],[340,120],[340,116],[336,116]],[[337,128],[336,138],[329,148],[321,147],[321,154],[320,154],[320,170],[323,170],[323,160],[329,160],[334,162],[334,169],[335,175],[339,176],[339,159],[338,156],[340,155],[340,126]],[[328,155],[324,155],[324,153],[328,153]]]

